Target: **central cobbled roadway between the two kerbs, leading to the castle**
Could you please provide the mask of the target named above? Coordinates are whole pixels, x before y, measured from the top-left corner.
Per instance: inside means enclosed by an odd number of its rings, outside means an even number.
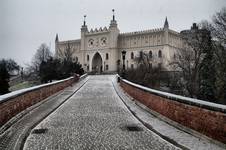
[[[33,129],[24,149],[178,149],[131,114],[114,90],[113,77],[90,76],[75,95]]]

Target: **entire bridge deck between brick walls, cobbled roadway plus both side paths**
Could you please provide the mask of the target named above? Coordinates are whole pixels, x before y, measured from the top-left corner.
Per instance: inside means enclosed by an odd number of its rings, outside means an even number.
[[[34,107],[0,136],[0,149],[224,149],[136,105],[114,75],[88,76]]]

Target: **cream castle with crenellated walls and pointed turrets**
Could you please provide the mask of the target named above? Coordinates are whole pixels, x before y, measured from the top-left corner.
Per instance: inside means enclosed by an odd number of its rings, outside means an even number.
[[[122,65],[122,51],[126,51],[125,67],[136,67],[135,57],[140,51],[149,54],[153,66],[170,70],[169,62],[182,48],[180,33],[169,29],[167,18],[163,28],[120,33],[114,10],[109,28],[88,30],[84,16],[81,27],[81,39],[59,41],[55,39],[56,57],[70,48],[73,61],[79,62],[86,72],[116,72]]]

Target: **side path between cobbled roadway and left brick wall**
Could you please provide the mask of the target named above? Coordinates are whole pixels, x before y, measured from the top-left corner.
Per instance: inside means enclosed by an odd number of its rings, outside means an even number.
[[[0,135],[0,150],[19,150],[26,139],[30,130],[39,123],[42,119],[48,116],[52,111],[65,102],[68,97],[73,95],[87,79],[76,83],[73,87],[68,87],[56,95],[37,103],[36,105],[25,110],[25,115],[19,118],[16,123],[9,127],[3,134]]]

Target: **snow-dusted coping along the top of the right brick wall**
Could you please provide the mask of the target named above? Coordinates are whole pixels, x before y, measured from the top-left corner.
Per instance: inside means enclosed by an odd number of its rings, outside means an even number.
[[[119,77],[119,75],[117,75],[117,76]],[[205,109],[209,109],[209,110],[213,110],[213,111],[219,111],[222,113],[226,113],[226,105],[211,103],[211,102],[207,102],[204,100],[199,100],[199,99],[185,97],[185,96],[176,95],[176,94],[172,94],[172,93],[162,92],[159,90],[154,90],[154,89],[130,82],[126,79],[121,78],[121,80],[135,88],[144,90],[144,91],[152,93],[154,95],[158,95],[158,96],[167,98],[169,100],[174,100],[174,101],[182,102],[182,103],[185,103],[188,105],[193,105],[193,106],[197,106],[200,108],[205,108]]]

